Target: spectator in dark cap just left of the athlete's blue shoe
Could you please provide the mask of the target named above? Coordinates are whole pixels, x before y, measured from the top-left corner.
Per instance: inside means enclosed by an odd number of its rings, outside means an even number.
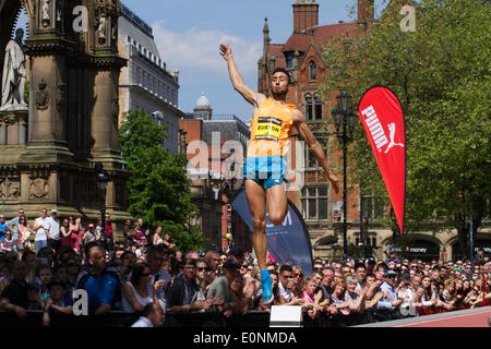
[[[233,294],[230,285],[238,275],[239,265],[233,260],[228,260],[221,265],[223,275],[217,277],[209,286],[206,299],[219,298],[220,304],[211,306],[212,311],[224,312],[224,315],[230,316],[237,304],[233,302]]]

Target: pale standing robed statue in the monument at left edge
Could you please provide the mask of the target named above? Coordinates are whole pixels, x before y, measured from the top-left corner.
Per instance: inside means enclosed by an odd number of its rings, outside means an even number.
[[[25,56],[22,50],[23,37],[24,31],[19,28],[15,32],[15,40],[10,40],[5,47],[0,111],[27,109],[24,100],[26,71]]]

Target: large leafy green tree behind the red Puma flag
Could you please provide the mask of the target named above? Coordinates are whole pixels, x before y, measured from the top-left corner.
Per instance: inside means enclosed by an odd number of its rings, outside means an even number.
[[[468,255],[469,214],[476,233],[490,209],[490,3],[421,0],[414,4],[411,33],[400,28],[406,1],[388,2],[363,35],[338,37],[325,48],[330,83],[323,92],[346,86],[360,100],[369,87],[385,85],[398,95],[406,116],[406,228],[454,228]],[[388,204],[361,124],[356,140],[350,161],[357,180]],[[394,215],[388,224],[398,229]]]

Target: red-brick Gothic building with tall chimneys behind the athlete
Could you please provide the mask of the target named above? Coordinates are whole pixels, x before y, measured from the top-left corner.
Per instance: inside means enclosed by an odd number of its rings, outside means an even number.
[[[327,3],[327,2],[326,2]],[[327,91],[319,95],[319,87],[330,79],[330,69],[322,59],[323,48],[330,39],[338,36],[359,37],[367,33],[374,17],[374,1],[358,0],[357,20],[349,23],[319,24],[320,4],[314,0],[297,0],[292,3],[292,33],[284,44],[273,44],[270,37],[267,19],[263,27],[263,56],[258,63],[259,92],[270,94],[271,73],[276,68],[285,68],[290,73],[291,85],[288,91],[288,103],[300,109],[321,144],[334,141],[334,127],[326,127],[332,120],[331,110],[336,107],[338,91]],[[390,5],[402,7],[405,1],[391,1]],[[369,87],[369,86],[368,86]],[[355,104],[357,101],[354,101]],[[355,106],[356,108],[356,106]],[[294,135],[296,137],[296,135]],[[295,141],[295,140],[291,140]],[[295,144],[295,142],[291,142]],[[292,147],[292,153],[295,153]],[[340,168],[343,154],[326,151],[327,159],[333,168]],[[292,164],[292,167],[295,164]],[[297,205],[306,220],[314,256],[339,257],[343,251],[342,220],[343,193],[335,194],[326,178],[322,174],[315,157],[306,148],[303,158],[304,188],[289,192],[289,198]],[[349,181],[349,174],[356,169],[348,167],[348,244],[371,245],[373,254],[384,256],[385,246],[392,242],[392,230],[382,225],[386,207],[372,193],[360,193],[359,185]],[[343,173],[338,177],[343,180]],[[343,185],[343,183],[340,183]],[[362,207],[362,210],[360,209]],[[360,212],[363,218],[360,219]],[[360,225],[360,220],[362,225]],[[361,239],[361,226],[366,239]],[[455,260],[462,256],[460,245],[455,231],[438,234],[431,228],[411,232],[412,245],[407,255],[411,258]],[[489,226],[475,238],[479,246],[491,251]],[[363,241],[362,241],[363,240]],[[421,252],[424,251],[424,252]]]

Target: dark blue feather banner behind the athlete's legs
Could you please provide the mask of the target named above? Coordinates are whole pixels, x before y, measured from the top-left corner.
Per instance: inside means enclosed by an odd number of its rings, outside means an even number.
[[[252,233],[252,216],[246,192],[240,192],[232,201],[232,205]],[[267,251],[278,263],[298,265],[304,275],[311,274],[312,246],[306,222],[294,203],[288,201],[288,213],[282,226],[273,225],[267,217],[266,212]]]

